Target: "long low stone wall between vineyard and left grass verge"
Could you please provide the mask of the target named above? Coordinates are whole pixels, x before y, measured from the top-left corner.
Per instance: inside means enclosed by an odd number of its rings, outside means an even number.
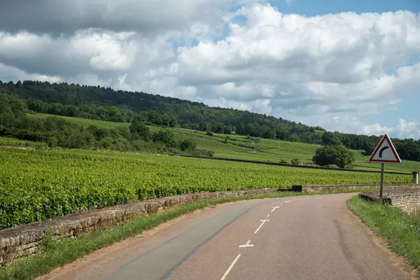
[[[105,209],[85,211],[69,216],[0,230],[0,266],[16,258],[36,253],[41,241],[52,232],[54,239],[76,238],[97,228],[120,225],[125,221],[172,207],[194,202],[198,199],[216,199],[241,195],[264,195],[276,192],[273,189],[237,190],[231,192],[176,195],[162,199],[134,202]]]

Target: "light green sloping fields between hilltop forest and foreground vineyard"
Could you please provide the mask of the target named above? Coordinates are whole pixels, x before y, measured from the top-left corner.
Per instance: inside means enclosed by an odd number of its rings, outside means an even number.
[[[51,115],[46,114],[28,114],[31,118],[46,118]],[[129,127],[128,123],[113,123],[102,120],[88,120],[83,118],[62,117],[84,127],[89,125],[97,125],[99,127]],[[168,127],[153,127],[151,131],[155,130],[170,130],[174,132],[177,139],[184,139],[186,137],[194,139],[197,143],[197,148],[214,151],[214,156],[222,158],[238,158],[245,160],[261,160],[269,162],[285,161],[290,163],[290,160],[297,158],[305,165],[310,165],[312,156],[315,153],[318,145],[303,144],[288,141],[279,141],[272,139],[260,139],[260,143],[249,141],[246,137],[240,135],[229,135],[228,143],[223,143],[226,134],[214,133],[214,136],[208,136],[205,132],[196,130],[185,130],[181,128]],[[380,170],[380,164],[367,162],[367,156],[362,155],[363,151],[353,151],[356,155],[356,162],[353,166],[357,169]],[[420,162],[403,161],[401,165],[386,165],[386,170],[395,172],[412,172],[420,170]]]

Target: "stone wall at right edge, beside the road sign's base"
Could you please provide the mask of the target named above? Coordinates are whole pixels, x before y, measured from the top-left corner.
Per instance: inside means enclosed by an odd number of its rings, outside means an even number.
[[[379,202],[379,192],[372,191],[360,193],[360,196]],[[384,203],[391,204],[407,214],[414,214],[420,211],[420,186],[412,190],[384,190]]]

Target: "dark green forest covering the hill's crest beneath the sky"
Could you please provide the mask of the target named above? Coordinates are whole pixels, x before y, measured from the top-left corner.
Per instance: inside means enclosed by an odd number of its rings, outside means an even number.
[[[149,125],[182,127],[192,130],[240,134],[265,139],[324,144],[338,141],[346,148],[364,150],[369,155],[379,137],[328,132],[265,114],[209,107],[173,97],[112,90],[110,87],[48,83],[25,80],[2,83],[0,93],[25,99],[29,111],[60,116],[132,123],[140,113]],[[420,141],[392,139],[403,160],[420,161]]]

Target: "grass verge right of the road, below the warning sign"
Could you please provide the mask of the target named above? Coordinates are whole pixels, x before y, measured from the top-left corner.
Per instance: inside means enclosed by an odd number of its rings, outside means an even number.
[[[420,269],[420,216],[409,216],[395,207],[351,197],[347,206],[374,232],[388,241],[389,248]]]

